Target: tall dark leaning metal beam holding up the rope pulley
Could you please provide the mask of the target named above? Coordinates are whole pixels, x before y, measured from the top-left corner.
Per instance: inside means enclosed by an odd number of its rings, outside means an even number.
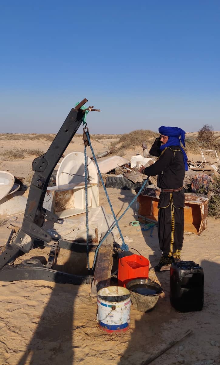
[[[45,219],[55,222],[58,216],[42,207],[44,197],[51,174],[82,123],[83,115],[81,109],[72,108],[47,152],[32,162],[35,173],[31,181],[24,219],[21,229],[13,240],[13,243],[25,253],[32,248],[34,238],[45,242],[51,241],[51,235],[41,227]]]

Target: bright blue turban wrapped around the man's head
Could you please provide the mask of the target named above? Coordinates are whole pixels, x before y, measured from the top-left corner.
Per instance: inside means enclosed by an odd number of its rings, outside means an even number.
[[[185,170],[188,171],[188,165],[187,165],[187,155],[184,151],[184,149],[180,145],[180,141],[182,142],[182,145],[185,147],[185,131],[178,127],[164,127],[161,126],[159,128],[159,133],[163,134],[164,136],[169,137],[168,141],[165,143],[165,145],[160,146],[160,150],[164,150],[166,147],[169,146],[180,146],[183,157],[184,157],[184,164],[185,164]]]

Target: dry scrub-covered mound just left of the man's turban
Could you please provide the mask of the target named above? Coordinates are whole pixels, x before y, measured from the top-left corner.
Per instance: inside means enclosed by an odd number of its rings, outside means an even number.
[[[146,141],[148,147],[151,147],[156,137],[158,137],[158,133],[143,129],[122,134],[118,141],[112,143],[112,153],[118,153],[118,151],[122,149],[128,150],[135,149],[135,147],[141,147],[143,141]]]

